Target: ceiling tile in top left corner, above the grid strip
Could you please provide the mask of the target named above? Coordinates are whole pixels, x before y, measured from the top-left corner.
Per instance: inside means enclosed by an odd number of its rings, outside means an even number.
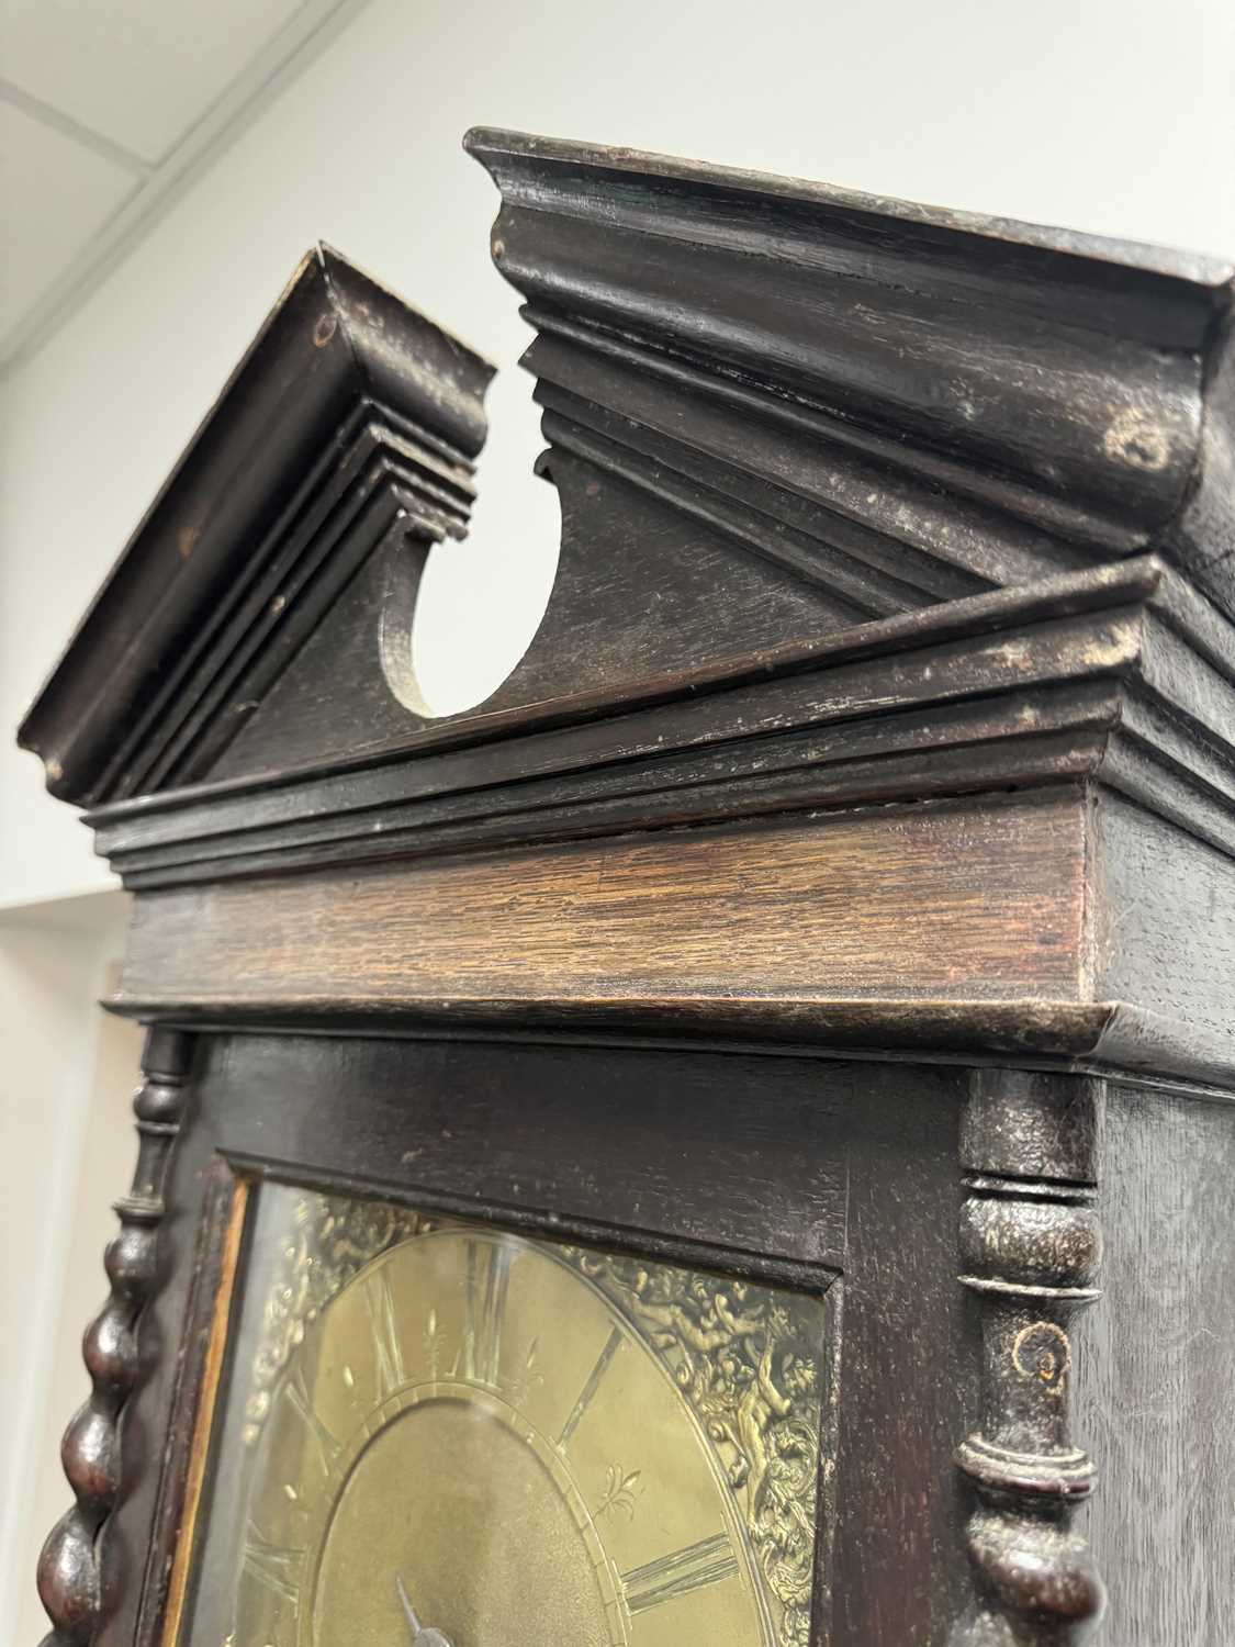
[[[0,0],[3,77],[156,163],[303,0]]]

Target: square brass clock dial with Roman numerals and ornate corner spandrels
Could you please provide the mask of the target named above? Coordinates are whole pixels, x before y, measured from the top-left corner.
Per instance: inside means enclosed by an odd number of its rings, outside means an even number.
[[[263,1196],[298,1212],[194,1647],[805,1644],[820,1298],[395,1209],[367,1257],[372,1204]]]

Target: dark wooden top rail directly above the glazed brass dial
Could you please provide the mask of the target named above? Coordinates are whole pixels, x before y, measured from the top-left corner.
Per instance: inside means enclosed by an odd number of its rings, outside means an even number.
[[[855,1067],[776,1069],[769,1105],[749,1056],[235,1036],[211,1038],[203,1102],[226,1115],[217,1148],[240,1168],[840,1270]],[[354,1103],[331,1103],[339,1080]],[[275,1135],[255,1090],[280,1095]]]

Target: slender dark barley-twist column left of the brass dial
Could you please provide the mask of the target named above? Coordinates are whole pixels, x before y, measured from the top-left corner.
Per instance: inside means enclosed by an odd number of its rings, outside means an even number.
[[[105,1255],[110,1295],[82,1346],[92,1390],[61,1444],[77,1502],[51,1530],[38,1565],[38,1591],[53,1624],[43,1647],[89,1647],[105,1619],[107,1519],[124,1482],[124,1410],[142,1369],[142,1311],[158,1286],[158,1227],[184,1110],[189,1047],[189,1036],[155,1028],[142,1059],[145,1079],[133,1095],[133,1187],[115,1204],[120,1229]]]

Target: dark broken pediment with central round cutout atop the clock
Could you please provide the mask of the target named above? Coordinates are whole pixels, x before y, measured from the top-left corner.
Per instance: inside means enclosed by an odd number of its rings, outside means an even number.
[[[318,252],[31,713],[58,794],[476,741],[1144,548],[1235,609],[1228,265],[512,133],[471,148],[540,328],[563,502],[529,656],[443,721],[387,680],[379,623],[410,621],[428,540],[466,525],[487,369]]]

